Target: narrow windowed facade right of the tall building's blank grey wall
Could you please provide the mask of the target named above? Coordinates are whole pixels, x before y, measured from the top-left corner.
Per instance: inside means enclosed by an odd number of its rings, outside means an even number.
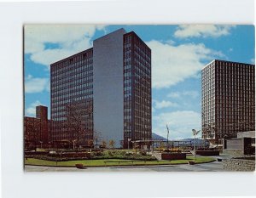
[[[124,35],[125,147],[152,138],[151,100],[151,49],[131,31]]]

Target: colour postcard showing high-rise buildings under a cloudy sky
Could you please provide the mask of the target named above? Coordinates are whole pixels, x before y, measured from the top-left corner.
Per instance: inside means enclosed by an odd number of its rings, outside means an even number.
[[[24,25],[26,172],[253,172],[253,25]]]

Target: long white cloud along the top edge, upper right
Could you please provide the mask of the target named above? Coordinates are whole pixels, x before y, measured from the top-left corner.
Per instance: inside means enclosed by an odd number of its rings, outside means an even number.
[[[230,34],[235,25],[179,25],[175,37],[221,37]]]

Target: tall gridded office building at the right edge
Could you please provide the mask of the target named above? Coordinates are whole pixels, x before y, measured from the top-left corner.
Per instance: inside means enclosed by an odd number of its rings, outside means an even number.
[[[255,130],[255,65],[215,59],[201,71],[202,138]]]

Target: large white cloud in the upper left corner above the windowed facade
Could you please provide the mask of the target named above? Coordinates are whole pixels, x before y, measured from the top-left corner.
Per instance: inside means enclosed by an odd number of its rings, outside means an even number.
[[[91,47],[91,37],[104,25],[26,25],[25,54],[47,65]],[[46,48],[55,44],[56,48]]]

